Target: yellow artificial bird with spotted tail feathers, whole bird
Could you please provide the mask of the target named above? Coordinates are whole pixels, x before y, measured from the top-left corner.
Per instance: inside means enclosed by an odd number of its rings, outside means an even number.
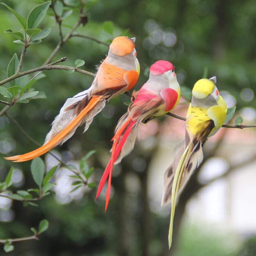
[[[192,100],[186,116],[185,143],[177,149],[172,164],[164,173],[162,205],[172,201],[169,228],[169,248],[172,245],[172,226],[177,195],[183,190],[191,174],[203,161],[202,146],[225,121],[227,105],[219,95],[216,76],[200,79],[192,90]]]

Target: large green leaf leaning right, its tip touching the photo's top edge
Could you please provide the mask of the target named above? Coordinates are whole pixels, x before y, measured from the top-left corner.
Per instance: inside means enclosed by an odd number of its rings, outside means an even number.
[[[28,15],[28,28],[37,28],[37,26],[44,19],[46,11],[48,10],[51,1],[48,1],[43,4],[39,4],[32,9]]]

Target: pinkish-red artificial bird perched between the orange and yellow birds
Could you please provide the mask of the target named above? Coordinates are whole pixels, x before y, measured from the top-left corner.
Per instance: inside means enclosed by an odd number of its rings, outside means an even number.
[[[171,111],[180,99],[180,85],[174,72],[174,66],[166,60],[156,61],[149,69],[149,79],[140,88],[139,92],[133,92],[132,103],[119,120],[113,146],[111,158],[101,177],[96,198],[108,178],[106,193],[105,211],[108,207],[111,177],[113,164],[121,162],[134,148],[134,143],[139,131],[140,123],[145,119],[161,116]]]

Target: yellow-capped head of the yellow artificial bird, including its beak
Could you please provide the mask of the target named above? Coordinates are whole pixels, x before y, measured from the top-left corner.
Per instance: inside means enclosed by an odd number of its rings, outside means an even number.
[[[210,94],[218,100],[219,90],[217,89],[213,79],[200,79],[193,87],[192,95],[197,99],[205,99]]]

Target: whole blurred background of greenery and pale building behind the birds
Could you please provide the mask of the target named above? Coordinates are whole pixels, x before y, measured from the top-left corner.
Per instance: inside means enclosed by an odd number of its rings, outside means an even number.
[[[23,16],[44,1],[4,0]],[[55,2],[55,1],[54,1]],[[65,8],[78,0],[61,1]],[[182,95],[189,97],[193,84],[203,76],[217,76],[217,86],[228,107],[237,106],[236,116],[244,124],[255,124],[256,100],[256,4],[253,0],[143,0],[85,1],[88,22],[78,33],[102,42],[121,34],[136,36],[137,57],[141,74],[135,89],[147,80],[148,68],[156,60],[172,61],[176,67]],[[68,4],[68,5],[67,5]],[[78,11],[63,21],[63,34],[78,19]],[[114,33],[103,24],[112,21]],[[22,70],[42,65],[59,42],[58,25],[49,9],[41,28],[52,28],[41,44],[28,48]],[[19,30],[18,21],[0,6],[0,79],[6,77],[7,65],[22,45],[4,30]],[[95,41],[72,37],[54,60],[67,56],[65,65],[74,66],[83,59],[85,70],[95,66],[108,52],[108,47]],[[34,85],[45,99],[29,104],[15,104],[8,110],[26,132],[40,144],[49,125],[68,97],[90,86],[92,77],[65,70],[44,72],[46,77]],[[8,85],[6,85],[8,86]],[[3,98],[4,100],[4,98]],[[98,184],[108,162],[110,140],[115,125],[129,101],[127,95],[111,100],[95,117],[90,129],[77,130],[72,139],[52,152],[63,162],[78,164],[90,150],[95,168],[91,180]],[[4,105],[1,107],[3,108]],[[184,116],[188,101],[181,100],[175,111]],[[232,123],[232,121],[231,121]],[[104,213],[104,193],[95,202],[96,190],[81,188],[73,193],[72,179],[66,169],[54,177],[52,194],[38,207],[0,198],[0,237],[29,236],[30,227],[42,219],[50,222],[39,241],[15,244],[9,255],[20,256],[85,256],[85,255],[256,255],[255,202],[255,128],[224,129],[204,147],[205,161],[188,183],[176,210],[173,247],[168,249],[170,206],[161,207],[163,173],[172,162],[173,149],[184,136],[184,122],[170,116],[141,125],[140,140],[133,152],[115,167],[111,200]],[[30,163],[12,164],[4,156],[36,148],[10,121],[0,117],[0,179],[14,167],[12,191],[36,187]],[[43,157],[49,169],[57,164],[49,155]],[[4,251],[0,255],[5,255]]]

